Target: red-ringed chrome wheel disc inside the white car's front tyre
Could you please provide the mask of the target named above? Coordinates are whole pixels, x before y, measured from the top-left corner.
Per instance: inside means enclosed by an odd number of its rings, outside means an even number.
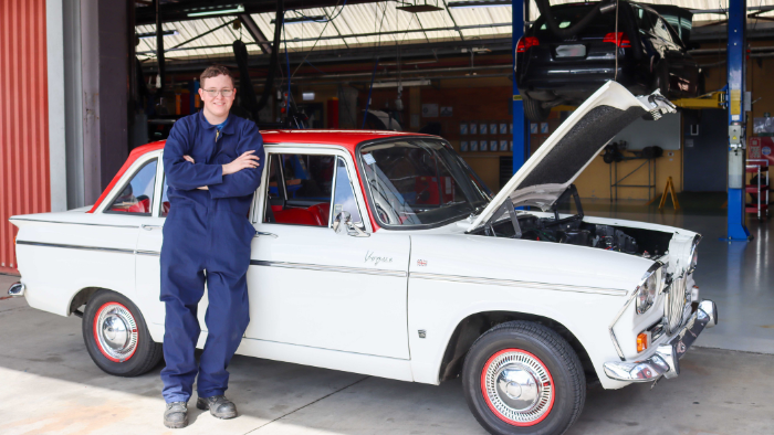
[[[501,421],[534,426],[554,407],[554,379],[543,361],[522,349],[503,349],[481,369],[481,395]]]

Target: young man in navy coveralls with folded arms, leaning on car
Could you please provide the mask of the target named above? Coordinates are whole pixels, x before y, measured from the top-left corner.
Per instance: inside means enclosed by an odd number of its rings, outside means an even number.
[[[164,424],[188,424],[197,378],[197,407],[233,418],[226,399],[227,368],[248,327],[247,272],[255,230],[250,200],[261,182],[263,139],[251,120],[229,115],[237,89],[228,68],[201,73],[201,112],[180,118],[164,148],[170,210],[161,246],[161,300],[166,306],[161,370]],[[197,307],[207,284],[207,341],[197,367]]]

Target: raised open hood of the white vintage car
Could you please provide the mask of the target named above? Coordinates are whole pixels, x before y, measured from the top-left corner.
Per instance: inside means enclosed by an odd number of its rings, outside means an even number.
[[[506,199],[514,206],[548,211],[567,187],[625,127],[644,115],[660,118],[674,105],[656,91],[635,97],[616,82],[607,82],[578,107],[511,178],[468,231],[484,225]]]

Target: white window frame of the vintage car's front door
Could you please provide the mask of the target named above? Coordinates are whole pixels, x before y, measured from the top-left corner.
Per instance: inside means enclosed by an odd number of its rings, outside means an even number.
[[[339,147],[339,146],[324,146],[324,145],[306,145],[306,144],[264,144],[264,152],[265,152],[265,159],[266,161],[270,160],[271,155],[314,155],[314,156],[333,156],[333,157],[341,157],[344,159],[344,165],[347,170],[347,176],[349,177],[349,184],[353,188],[353,193],[355,194],[355,202],[357,204],[357,210],[360,213],[360,219],[363,220],[363,229],[366,232],[373,232],[373,227],[370,225],[370,214],[369,210],[367,206],[365,206],[365,197],[363,193],[363,187],[359,185],[359,173],[357,171],[357,167],[355,165],[355,160],[353,159],[353,156],[349,151],[346,149]],[[280,168],[282,166],[280,165]],[[284,187],[284,172],[282,169],[282,184]],[[336,174],[337,174],[337,165],[336,160],[334,160],[334,174],[333,174],[333,184],[331,187],[331,211],[328,212],[328,223],[327,226],[313,226],[313,225],[301,225],[301,226],[308,226],[308,227],[320,227],[320,229],[331,229],[333,226],[333,201],[334,197],[336,193]],[[253,225],[293,225],[293,224],[283,224],[283,223],[276,223],[276,222],[263,222],[263,216],[265,215],[266,211],[266,204],[269,204],[269,176],[270,176],[271,170],[265,170],[263,171],[262,178],[261,178],[261,187],[258,189],[258,194],[253,195],[253,203],[252,203],[252,212],[250,213],[251,216],[251,222]],[[357,180],[357,183],[355,182]],[[286,194],[286,193],[285,193]],[[285,197],[287,198],[287,197]]]

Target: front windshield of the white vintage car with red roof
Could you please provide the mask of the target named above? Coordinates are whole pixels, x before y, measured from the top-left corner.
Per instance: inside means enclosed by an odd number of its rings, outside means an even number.
[[[491,199],[475,172],[441,140],[366,145],[360,161],[374,215],[386,227],[448,223],[480,212]]]

